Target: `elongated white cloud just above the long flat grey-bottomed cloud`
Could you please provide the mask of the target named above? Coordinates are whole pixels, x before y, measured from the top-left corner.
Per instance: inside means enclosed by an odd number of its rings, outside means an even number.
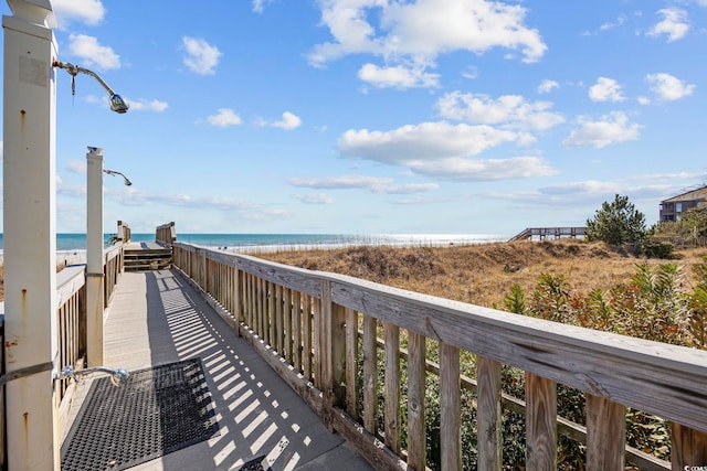
[[[483,125],[505,125],[518,129],[549,129],[564,121],[552,113],[550,101],[529,103],[520,95],[504,95],[497,99],[483,94],[452,92],[437,100],[444,118]]]

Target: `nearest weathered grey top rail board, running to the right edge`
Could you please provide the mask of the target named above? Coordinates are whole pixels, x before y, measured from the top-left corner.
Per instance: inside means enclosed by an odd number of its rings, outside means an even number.
[[[707,431],[707,352],[328,275],[336,303]]]

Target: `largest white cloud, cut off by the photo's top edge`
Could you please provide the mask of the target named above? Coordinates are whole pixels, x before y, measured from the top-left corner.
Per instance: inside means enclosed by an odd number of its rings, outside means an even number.
[[[488,0],[319,0],[321,23],[331,42],[316,45],[313,65],[349,54],[376,54],[386,66],[368,64],[359,72],[377,86],[436,86],[435,58],[468,51],[483,54],[500,47],[519,53],[524,62],[542,57],[547,45],[535,29],[525,24],[527,10]],[[408,64],[400,68],[400,64]],[[410,66],[414,64],[414,66]],[[407,69],[407,71],[405,71]]]

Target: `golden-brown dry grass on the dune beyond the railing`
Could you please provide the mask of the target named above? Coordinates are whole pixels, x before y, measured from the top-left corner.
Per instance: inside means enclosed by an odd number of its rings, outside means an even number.
[[[494,243],[447,247],[351,247],[258,254],[313,270],[333,271],[411,291],[503,308],[510,287],[532,290],[541,274],[561,275],[573,291],[609,289],[626,282],[637,264],[677,264],[692,285],[692,267],[707,248],[680,250],[676,260],[636,257],[603,243],[579,239]]]

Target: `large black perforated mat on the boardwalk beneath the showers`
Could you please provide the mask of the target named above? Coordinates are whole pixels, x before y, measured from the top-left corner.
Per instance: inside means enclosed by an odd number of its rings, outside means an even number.
[[[95,379],[62,447],[63,471],[124,470],[219,435],[201,360]]]

